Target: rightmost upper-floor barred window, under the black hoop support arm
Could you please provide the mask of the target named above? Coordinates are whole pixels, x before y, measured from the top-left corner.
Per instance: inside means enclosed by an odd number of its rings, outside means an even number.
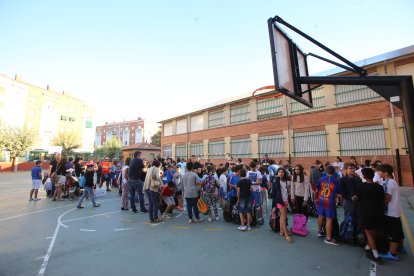
[[[335,85],[335,99],[337,106],[344,106],[377,101],[381,96],[365,85]]]

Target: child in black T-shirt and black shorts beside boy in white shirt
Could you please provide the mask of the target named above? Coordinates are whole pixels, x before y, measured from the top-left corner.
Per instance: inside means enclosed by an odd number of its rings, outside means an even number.
[[[375,230],[382,226],[385,198],[384,189],[380,184],[373,181],[373,169],[363,168],[361,174],[365,182],[357,186],[356,196],[359,203],[360,224],[362,229],[364,229],[368,243],[365,247],[365,252],[369,259],[377,264],[383,264],[377,251]]]

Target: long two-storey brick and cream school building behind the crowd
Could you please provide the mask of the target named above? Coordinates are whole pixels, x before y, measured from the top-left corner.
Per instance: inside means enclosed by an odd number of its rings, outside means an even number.
[[[414,45],[357,65],[370,75],[413,76]],[[335,69],[328,75],[347,74]],[[165,119],[160,122],[162,154],[196,155],[216,164],[230,156],[247,161],[268,154],[309,170],[316,159],[332,163],[336,156],[344,162],[356,156],[361,164],[371,159],[397,167],[398,148],[402,182],[412,185],[401,110],[366,86],[324,85],[312,93],[313,108],[285,96],[257,99],[248,93]]]

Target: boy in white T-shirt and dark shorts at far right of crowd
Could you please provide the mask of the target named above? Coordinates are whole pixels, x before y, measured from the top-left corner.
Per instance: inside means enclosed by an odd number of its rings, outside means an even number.
[[[381,164],[378,168],[381,178],[384,178],[383,187],[385,192],[385,216],[384,216],[384,233],[391,240],[390,250],[386,254],[380,254],[380,257],[387,260],[399,261],[398,252],[406,254],[403,247],[404,232],[401,223],[401,202],[400,189],[397,182],[393,179],[394,169],[391,165]]]

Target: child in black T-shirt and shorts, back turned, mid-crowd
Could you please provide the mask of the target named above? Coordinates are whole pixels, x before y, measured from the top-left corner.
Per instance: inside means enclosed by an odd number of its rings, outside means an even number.
[[[247,177],[245,169],[240,170],[240,181],[237,182],[237,204],[240,213],[240,231],[250,231],[250,223],[252,222],[252,182]],[[246,222],[247,214],[247,222]],[[247,225],[246,225],[247,224]]]

